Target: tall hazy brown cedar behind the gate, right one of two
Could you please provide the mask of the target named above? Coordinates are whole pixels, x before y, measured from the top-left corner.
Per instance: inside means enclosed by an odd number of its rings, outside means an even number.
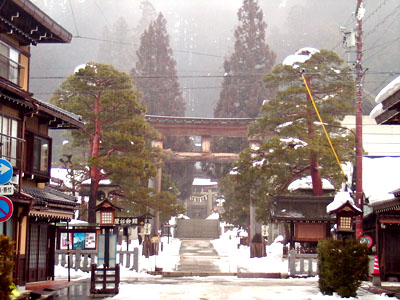
[[[262,78],[271,71],[276,55],[266,43],[267,24],[258,1],[244,0],[237,15],[234,52],[224,62],[225,76],[214,116],[256,118],[263,101],[274,94],[274,88],[265,88]],[[239,152],[246,146],[246,140],[237,138],[215,138],[212,142],[214,152]],[[229,168],[203,165],[216,178],[225,175]]]

